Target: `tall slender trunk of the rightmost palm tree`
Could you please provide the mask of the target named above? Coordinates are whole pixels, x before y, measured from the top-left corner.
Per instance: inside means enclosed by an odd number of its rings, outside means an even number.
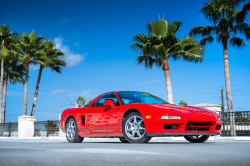
[[[226,81],[226,96],[227,96],[227,107],[230,114],[230,129],[231,135],[235,136],[235,120],[233,116],[233,105],[230,89],[230,78],[229,78],[229,65],[228,65],[228,50],[227,50],[227,36],[222,38],[223,43],[223,56],[224,56],[224,72],[225,72],[225,81]]]

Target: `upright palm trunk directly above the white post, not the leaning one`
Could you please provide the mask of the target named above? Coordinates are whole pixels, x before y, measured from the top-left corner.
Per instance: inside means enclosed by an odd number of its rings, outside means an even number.
[[[27,115],[27,104],[28,104],[28,78],[29,78],[29,58],[25,65],[25,82],[24,82],[24,104],[23,104],[23,115]]]

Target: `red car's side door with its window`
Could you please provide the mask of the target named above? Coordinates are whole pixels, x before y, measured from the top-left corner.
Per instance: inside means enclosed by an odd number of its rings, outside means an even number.
[[[114,108],[104,106],[106,99],[113,100]],[[120,102],[115,93],[103,94],[96,102],[88,108],[87,126],[91,133],[118,133],[121,131]]]

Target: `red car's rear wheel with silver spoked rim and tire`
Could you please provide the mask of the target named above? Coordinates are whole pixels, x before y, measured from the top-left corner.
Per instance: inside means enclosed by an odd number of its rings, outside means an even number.
[[[70,118],[66,124],[66,138],[69,143],[81,143],[84,139],[78,135],[78,129],[74,118]]]

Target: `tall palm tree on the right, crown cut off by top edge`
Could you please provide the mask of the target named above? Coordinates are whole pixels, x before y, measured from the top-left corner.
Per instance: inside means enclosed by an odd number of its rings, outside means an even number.
[[[228,65],[228,44],[232,47],[243,48],[246,46],[244,40],[237,35],[244,35],[247,40],[250,39],[250,26],[246,22],[246,16],[250,9],[250,3],[246,3],[242,10],[236,10],[236,6],[244,0],[235,1],[226,0],[212,0],[206,2],[205,6],[201,9],[201,13],[209,19],[213,26],[197,26],[190,31],[192,36],[201,36],[200,43],[206,45],[216,40],[222,43],[223,57],[224,57],[224,73],[226,82],[226,96],[228,111],[233,112],[230,78],[229,78],[229,65]],[[235,133],[233,133],[235,135]]]

